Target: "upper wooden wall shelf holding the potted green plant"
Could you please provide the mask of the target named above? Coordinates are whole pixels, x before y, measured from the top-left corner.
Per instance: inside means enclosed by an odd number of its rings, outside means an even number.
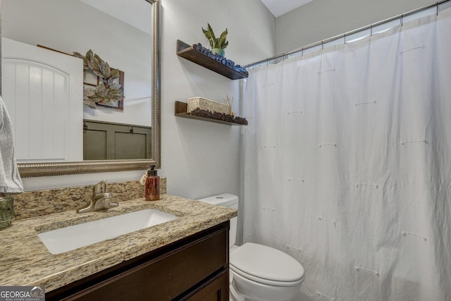
[[[247,74],[239,73],[232,68],[229,68],[228,66],[209,58],[208,56],[200,53],[200,51],[194,49],[192,45],[180,41],[180,39],[177,40],[177,55],[183,57],[184,59],[192,61],[193,63],[197,63],[198,65],[210,69],[216,73],[226,76],[226,78],[230,78],[230,80],[247,78]]]

